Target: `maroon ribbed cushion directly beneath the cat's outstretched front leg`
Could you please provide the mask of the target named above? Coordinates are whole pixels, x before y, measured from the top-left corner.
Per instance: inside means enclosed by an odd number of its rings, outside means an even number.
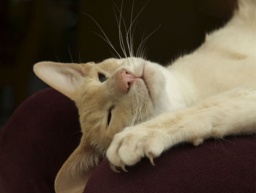
[[[114,173],[108,160],[94,171],[84,193],[252,192],[255,193],[255,135],[178,145],[129,173]]]

